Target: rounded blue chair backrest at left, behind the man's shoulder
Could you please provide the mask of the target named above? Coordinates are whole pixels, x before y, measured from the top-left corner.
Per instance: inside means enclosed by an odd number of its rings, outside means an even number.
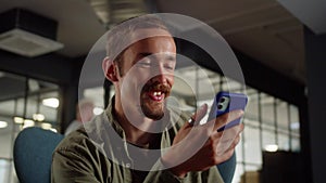
[[[13,160],[22,183],[50,183],[52,153],[64,136],[38,127],[21,131],[14,143]]]

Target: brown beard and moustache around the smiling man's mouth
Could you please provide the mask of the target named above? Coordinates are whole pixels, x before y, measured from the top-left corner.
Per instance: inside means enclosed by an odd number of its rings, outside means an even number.
[[[170,84],[160,82],[145,84],[140,94],[140,106],[146,117],[159,120],[164,116],[166,110],[165,103],[151,100],[151,97],[149,97],[149,93],[153,91],[160,91],[164,96],[163,100],[165,100],[171,93],[171,88],[172,87]]]

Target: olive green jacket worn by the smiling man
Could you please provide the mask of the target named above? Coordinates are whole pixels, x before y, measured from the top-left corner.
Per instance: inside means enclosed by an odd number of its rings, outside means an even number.
[[[114,101],[113,101],[114,102]],[[134,147],[126,142],[124,130],[113,117],[114,106],[109,105],[105,113],[67,135],[53,153],[52,183],[222,183],[223,180],[216,166],[202,172],[188,172],[183,179],[164,169],[160,157],[153,155],[155,162],[131,158]],[[183,123],[189,115],[171,115]],[[166,128],[161,134],[161,149],[170,147],[178,129],[178,122]],[[159,149],[160,151],[160,149]],[[142,165],[143,164],[143,165]],[[141,165],[141,166],[139,166]],[[146,171],[145,178],[137,180],[139,171],[146,166],[152,166]]]

